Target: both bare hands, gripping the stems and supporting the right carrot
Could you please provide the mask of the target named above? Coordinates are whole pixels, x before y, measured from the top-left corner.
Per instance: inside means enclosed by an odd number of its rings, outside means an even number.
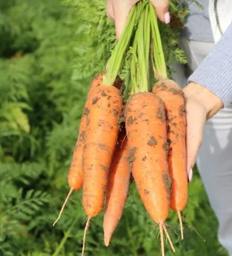
[[[122,30],[126,24],[127,14],[131,7],[140,0],[107,0],[107,15],[115,20],[115,30],[117,38],[120,38]],[[168,0],[150,0],[156,8],[157,17],[165,23],[170,22],[168,12]],[[194,86],[194,88],[192,88]],[[189,182],[192,179],[192,168],[196,162],[198,149],[203,137],[203,129],[208,118],[215,115],[222,108],[222,101],[211,93],[204,90],[204,97],[199,97],[203,92],[203,86],[191,83],[184,88],[187,97],[186,119],[187,119],[187,175]]]

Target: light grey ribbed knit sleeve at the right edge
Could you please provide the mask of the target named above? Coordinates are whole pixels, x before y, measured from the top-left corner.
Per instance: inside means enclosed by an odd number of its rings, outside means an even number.
[[[188,82],[201,84],[213,92],[224,106],[232,100],[232,23]]]

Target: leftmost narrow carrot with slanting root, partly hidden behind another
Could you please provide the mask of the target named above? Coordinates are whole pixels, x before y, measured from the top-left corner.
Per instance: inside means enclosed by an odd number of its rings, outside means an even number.
[[[55,220],[54,224],[61,218],[61,214],[64,211],[64,207],[68,202],[69,197],[73,190],[78,190],[82,188],[82,151],[83,151],[83,143],[85,140],[85,127],[87,123],[87,115],[89,113],[89,106],[92,90],[99,86],[101,80],[103,78],[103,73],[98,74],[91,82],[91,87],[89,88],[89,93],[87,95],[87,100],[85,102],[85,108],[83,109],[82,119],[80,120],[80,127],[78,132],[78,139],[76,141],[75,149],[73,151],[73,159],[71,161],[71,166],[68,172],[68,184],[69,184],[69,193],[64,200],[64,204],[62,205],[61,211],[59,212],[59,216],[57,220]]]

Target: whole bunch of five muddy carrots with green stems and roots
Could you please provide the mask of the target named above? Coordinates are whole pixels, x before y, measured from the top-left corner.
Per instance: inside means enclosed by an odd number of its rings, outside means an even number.
[[[120,74],[129,60],[126,79]],[[156,83],[150,86],[149,70]],[[137,3],[112,51],[106,70],[94,77],[80,122],[78,140],[68,173],[69,194],[82,189],[91,218],[104,209],[104,237],[108,246],[122,218],[131,175],[143,205],[159,226],[161,252],[170,208],[187,204],[185,98],[180,86],[168,79],[156,10],[148,0]],[[57,222],[55,221],[55,223]],[[55,225],[54,223],[54,225]]]

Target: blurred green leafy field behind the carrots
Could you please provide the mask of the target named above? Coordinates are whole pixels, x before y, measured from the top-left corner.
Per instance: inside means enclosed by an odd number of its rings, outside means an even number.
[[[73,193],[61,220],[52,223],[69,190],[66,175],[89,83],[105,66],[115,35],[105,19],[105,0],[66,3],[0,1],[1,256],[74,256],[82,249],[82,191]],[[168,220],[175,255],[226,255],[196,171],[183,213],[184,241],[178,240],[176,214]],[[102,224],[103,214],[92,220],[85,255],[160,255],[157,227],[134,182],[108,248]]]

